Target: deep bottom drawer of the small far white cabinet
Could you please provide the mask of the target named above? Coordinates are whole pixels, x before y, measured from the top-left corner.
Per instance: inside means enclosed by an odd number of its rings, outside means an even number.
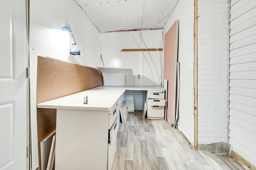
[[[148,106],[148,119],[164,119],[164,106]]]

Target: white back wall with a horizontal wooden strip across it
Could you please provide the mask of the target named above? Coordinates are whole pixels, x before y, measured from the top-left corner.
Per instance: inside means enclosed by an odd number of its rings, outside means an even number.
[[[163,53],[162,51],[145,51],[143,52],[144,57],[141,51],[121,52],[121,50],[156,48],[156,46],[157,48],[163,48],[161,29],[101,34],[101,53],[105,67],[131,68],[134,76],[136,76],[134,85],[159,84],[158,76],[160,78]],[[146,63],[146,60],[149,64]],[[138,74],[140,74],[140,80],[137,78]]]

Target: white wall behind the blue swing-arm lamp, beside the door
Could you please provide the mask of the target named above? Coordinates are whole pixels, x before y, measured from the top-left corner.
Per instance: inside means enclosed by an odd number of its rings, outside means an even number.
[[[70,24],[81,55],[69,54],[70,35],[58,29]],[[30,100],[32,170],[38,167],[36,125],[37,56],[67,60],[86,66],[101,66],[100,33],[73,0],[30,1]]]

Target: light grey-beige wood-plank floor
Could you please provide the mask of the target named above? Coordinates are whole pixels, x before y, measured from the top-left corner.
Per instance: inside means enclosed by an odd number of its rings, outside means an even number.
[[[141,114],[129,112],[120,124],[112,170],[244,170],[232,156],[194,150],[167,121]]]

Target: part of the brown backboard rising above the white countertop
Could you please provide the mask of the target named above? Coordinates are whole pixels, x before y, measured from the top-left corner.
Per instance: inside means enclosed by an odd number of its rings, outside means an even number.
[[[38,57],[37,103],[102,85],[102,74],[97,68]]]

